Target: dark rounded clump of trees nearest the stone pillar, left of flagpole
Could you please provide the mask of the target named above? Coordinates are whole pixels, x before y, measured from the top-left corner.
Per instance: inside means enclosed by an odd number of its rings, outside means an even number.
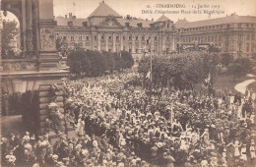
[[[85,73],[86,76],[96,77],[106,72],[131,68],[134,60],[129,52],[111,53],[103,51],[84,51],[76,49],[68,54],[68,65],[73,74]]]

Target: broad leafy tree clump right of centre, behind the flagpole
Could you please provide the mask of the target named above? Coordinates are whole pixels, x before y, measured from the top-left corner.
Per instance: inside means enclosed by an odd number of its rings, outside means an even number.
[[[166,86],[171,81],[175,87],[179,88],[203,83],[209,73],[214,71],[217,63],[216,55],[201,52],[173,55],[172,57],[154,57],[152,63],[153,83]],[[147,76],[150,66],[150,57],[144,57],[139,62],[138,72]]]

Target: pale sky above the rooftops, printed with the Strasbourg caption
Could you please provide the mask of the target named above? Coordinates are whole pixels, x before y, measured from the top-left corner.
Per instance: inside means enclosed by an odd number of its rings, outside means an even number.
[[[87,18],[98,6],[102,0],[53,0],[54,1],[54,15],[65,16],[68,13],[73,13],[77,18]],[[256,16],[256,0],[104,0],[108,6],[116,11],[121,16],[131,15],[136,18],[142,19],[154,19],[157,20],[162,14],[143,14],[143,10],[169,10],[179,11],[179,14],[165,14],[173,22],[178,19],[184,19],[188,21],[199,21],[225,17],[226,15],[235,14],[240,16]],[[183,8],[157,8],[159,4],[162,5],[178,5]],[[150,5],[151,8],[146,6]],[[206,5],[208,8],[203,7],[199,10],[203,14],[189,14],[184,11],[193,10],[198,5]],[[215,7],[217,8],[214,8]],[[181,14],[181,10],[183,13]],[[197,9],[198,10],[198,9]],[[218,10],[220,14],[204,14],[204,10]]]

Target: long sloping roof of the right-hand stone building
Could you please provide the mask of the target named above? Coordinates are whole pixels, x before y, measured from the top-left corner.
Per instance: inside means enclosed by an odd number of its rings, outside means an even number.
[[[176,28],[198,28],[214,25],[224,25],[224,24],[243,24],[243,23],[256,23],[256,17],[251,16],[238,16],[232,14],[224,18],[209,19],[196,22],[188,22],[185,19],[176,22]]]

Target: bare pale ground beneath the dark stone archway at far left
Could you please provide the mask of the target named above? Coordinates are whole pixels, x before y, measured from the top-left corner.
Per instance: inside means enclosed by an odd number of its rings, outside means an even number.
[[[1,116],[1,136],[9,137],[11,133],[24,135],[26,127],[23,124],[22,115]]]

